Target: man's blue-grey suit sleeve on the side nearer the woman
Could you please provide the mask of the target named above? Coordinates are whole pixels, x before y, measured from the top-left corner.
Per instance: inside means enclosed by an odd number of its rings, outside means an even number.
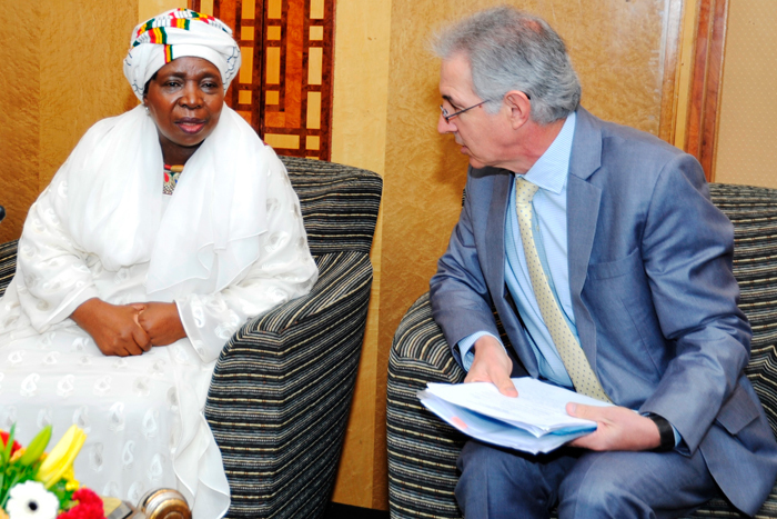
[[[476,332],[500,337],[473,232],[476,192],[471,176],[467,176],[466,192],[448,248],[437,262],[437,273],[430,281],[432,315],[452,347]],[[457,351],[454,357],[458,360]]]

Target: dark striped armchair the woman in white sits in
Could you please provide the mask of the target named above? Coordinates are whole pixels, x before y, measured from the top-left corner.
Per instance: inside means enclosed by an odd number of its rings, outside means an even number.
[[[205,417],[232,491],[230,518],[322,517],[340,459],[366,323],[382,180],[282,157],[320,277],[310,295],[243,326],[224,347]],[[0,290],[16,242],[0,246]]]

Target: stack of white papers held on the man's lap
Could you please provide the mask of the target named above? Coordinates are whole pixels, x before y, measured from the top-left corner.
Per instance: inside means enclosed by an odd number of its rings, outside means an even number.
[[[505,397],[490,382],[430,382],[418,391],[418,399],[472,438],[533,455],[596,430],[595,421],[567,415],[567,402],[612,406],[529,377],[515,378],[513,383],[518,398]]]

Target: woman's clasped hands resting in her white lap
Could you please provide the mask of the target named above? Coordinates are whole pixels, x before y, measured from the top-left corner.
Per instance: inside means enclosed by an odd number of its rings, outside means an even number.
[[[152,346],[168,346],[186,333],[172,302],[111,305],[98,298],[70,316],[107,356],[134,356]]]

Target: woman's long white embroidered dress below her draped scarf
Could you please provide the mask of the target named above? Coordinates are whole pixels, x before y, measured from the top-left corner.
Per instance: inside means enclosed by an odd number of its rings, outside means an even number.
[[[222,118],[233,117],[239,118],[224,108]],[[148,121],[138,120],[148,126]],[[240,124],[242,120],[232,122]],[[100,143],[94,139],[90,142],[89,137],[79,148],[88,144],[99,149]],[[219,140],[215,131],[211,138]],[[184,289],[173,287],[151,296],[147,286],[152,261],[148,258],[171,262],[158,272],[176,268],[175,258],[154,254],[161,243],[175,242],[168,238],[170,222],[185,217],[185,207],[181,212],[181,204],[175,206],[179,213],[173,207],[176,197],[186,196],[182,189],[186,180],[193,180],[186,178],[189,164],[172,197],[165,197],[161,194],[159,162],[152,183],[160,197],[141,202],[143,218],[158,232],[147,241],[155,244],[140,254],[145,261],[109,268],[70,231],[68,207],[75,194],[69,192],[73,189],[70,177],[75,173],[65,163],[30,209],[19,241],[17,275],[0,299],[0,428],[8,430],[16,422],[18,438],[26,443],[48,423],[54,427],[53,439],[75,423],[88,435],[75,462],[75,476],[97,492],[137,502],[150,489],[171,487],[181,490],[190,505],[194,499],[198,519],[221,517],[226,511],[229,486],[221,453],[203,416],[215,360],[250,317],[307,293],[317,277],[299,200],[285,169],[271,148],[262,147],[258,153],[258,160],[263,161],[261,174],[266,176],[261,182],[265,192],[260,197],[266,208],[264,231],[253,237],[258,259],[238,270],[220,290],[184,290],[188,285],[183,282],[180,287]],[[73,160],[71,157],[69,162]],[[235,189],[241,189],[240,183]],[[205,203],[196,211],[208,213],[208,208]],[[242,208],[249,214],[251,209]],[[196,229],[186,231],[192,232]],[[143,238],[115,236],[114,240]],[[224,262],[218,250],[213,272],[219,270],[219,261]],[[206,261],[208,254],[198,257],[200,261],[203,258]],[[211,280],[215,278],[215,273],[211,276]],[[208,287],[208,280],[196,283]],[[68,318],[92,297],[113,305],[174,300],[188,338],[138,357],[105,357]]]

